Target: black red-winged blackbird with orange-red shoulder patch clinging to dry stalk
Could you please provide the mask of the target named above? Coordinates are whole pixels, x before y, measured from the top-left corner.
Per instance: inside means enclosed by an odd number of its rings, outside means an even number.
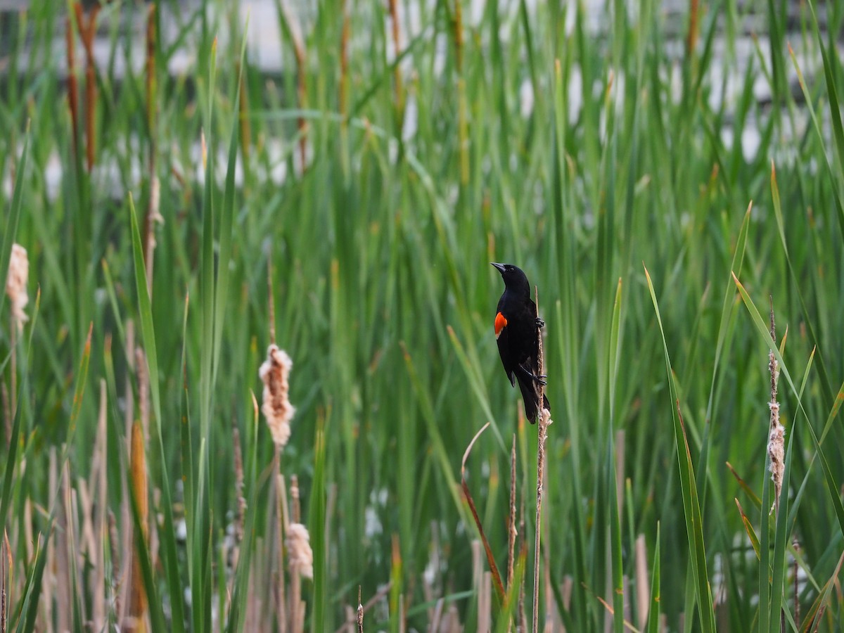
[[[530,282],[522,268],[512,264],[492,264],[504,279],[504,294],[495,311],[495,339],[498,353],[510,384],[519,381],[525,416],[536,424],[539,391],[545,376],[540,376],[539,329],[545,324],[537,316],[536,304],[530,298]],[[550,410],[548,398],[542,397],[542,407]]]

